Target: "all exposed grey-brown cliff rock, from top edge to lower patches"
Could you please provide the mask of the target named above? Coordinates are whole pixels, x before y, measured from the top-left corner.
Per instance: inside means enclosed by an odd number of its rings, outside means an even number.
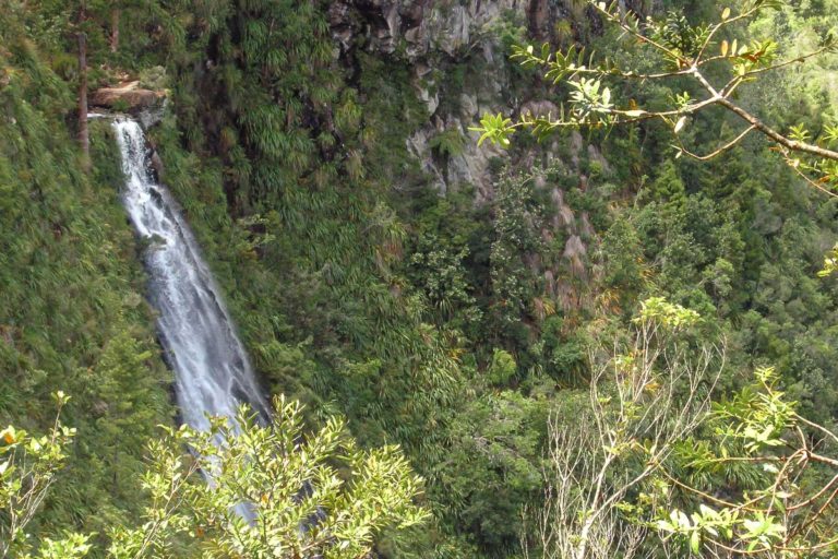
[[[624,7],[646,11],[648,3],[636,0]],[[543,90],[520,83],[522,75],[510,64],[508,45],[503,45],[501,37],[506,34],[532,43],[566,44],[599,31],[599,21],[577,0],[340,0],[331,4],[330,23],[337,56],[347,62],[356,49],[361,49],[409,64],[411,85],[427,108],[428,120],[407,139],[408,151],[440,195],[474,187],[476,204],[493,199],[495,177],[491,169],[495,163],[508,162],[510,155],[488,144],[478,147],[478,134],[469,127],[486,112],[558,112],[554,104],[543,100]],[[447,78],[455,72],[465,79],[453,86]],[[459,139],[458,148],[440,153],[441,139]],[[513,163],[525,168],[560,165],[568,174],[579,175],[583,190],[587,178],[579,173],[580,157],[608,166],[599,151],[586,145],[579,134],[573,134],[570,146],[561,153],[563,158],[556,144],[548,144],[540,151],[528,150],[527,160]],[[564,191],[546,185],[540,188],[551,189],[549,195],[555,206],[555,217],[540,234],[546,241],[562,237],[566,243],[555,262],[530,255],[531,266],[535,273],[543,274],[548,293],[562,301],[565,310],[572,310],[582,305],[583,297],[574,285],[588,280],[584,261],[596,234],[588,215],[574,213],[566,203]]]

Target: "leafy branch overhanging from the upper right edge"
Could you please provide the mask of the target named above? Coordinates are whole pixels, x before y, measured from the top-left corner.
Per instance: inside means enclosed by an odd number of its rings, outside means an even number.
[[[570,92],[566,105],[558,115],[532,116],[524,114],[513,122],[503,115],[486,115],[480,142],[490,140],[510,144],[511,134],[518,128],[531,129],[543,136],[558,129],[602,128],[660,120],[672,129],[677,157],[687,155],[698,160],[711,159],[740,144],[750,133],[759,132],[809,185],[838,195],[838,121],[827,122],[816,135],[800,124],[788,132],[775,130],[759,116],[749,110],[740,97],[740,86],[754,82],[770,72],[804,63],[825,53],[838,52],[838,37],[826,34],[819,47],[806,53],[782,58],[773,39],[740,40],[741,25],[753,21],[763,11],[780,8],[782,0],[744,0],[734,12],[721,9],[719,19],[711,24],[692,24],[678,12],[662,19],[646,17],[626,11],[623,2],[588,0],[590,8],[607,23],[622,32],[624,47],[639,51],[632,61],[600,58],[584,48],[571,47],[564,52],[552,52],[549,45],[540,50],[532,46],[514,47],[513,58],[525,67],[541,68],[544,78],[554,85],[562,84]],[[641,61],[653,60],[655,68],[647,71]],[[609,81],[621,83],[670,82],[684,83],[692,91],[677,94],[663,108],[639,107],[634,99],[619,106]],[[694,153],[681,141],[679,133],[692,118],[713,107],[721,107],[744,123],[722,145],[704,154]]]

